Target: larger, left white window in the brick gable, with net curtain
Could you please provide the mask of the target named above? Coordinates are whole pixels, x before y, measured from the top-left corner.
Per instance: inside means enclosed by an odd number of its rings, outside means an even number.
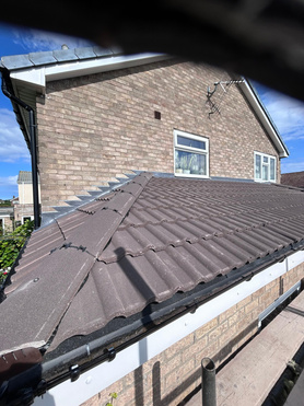
[[[176,176],[209,177],[209,140],[174,130],[174,173]]]

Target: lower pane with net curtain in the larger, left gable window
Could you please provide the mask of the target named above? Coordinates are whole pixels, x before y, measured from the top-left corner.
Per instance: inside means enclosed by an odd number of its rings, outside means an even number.
[[[186,151],[175,151],[175,172],[192,175],[206,175],[206,155]]]

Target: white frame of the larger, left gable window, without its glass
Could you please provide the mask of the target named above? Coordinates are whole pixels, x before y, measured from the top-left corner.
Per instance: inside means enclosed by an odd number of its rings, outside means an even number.
[[[192,139],[195,141],[202,141],[206,144],[204,149],[199,149],[196,147],[187,147],[178,143],[177,137],[184,137],[188,139]],[[176,172],[176,151],[184,151],[184,152],[190,152],[198,155],[204,155],[206,156],[206,174],[194,174],[194,173],[177,173]],[[209,139],[207,137],[197,136],[191,132],[186,132],[182,130],[174,130],[174,175],[175,176],[182,176],[182,177],[199,177],[199,178],[209,178]]]

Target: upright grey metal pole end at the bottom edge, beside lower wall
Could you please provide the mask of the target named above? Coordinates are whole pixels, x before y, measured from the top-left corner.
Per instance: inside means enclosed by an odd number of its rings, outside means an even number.
[[[201,360],[202,406],[217,406],[215,364],[210,358]]]

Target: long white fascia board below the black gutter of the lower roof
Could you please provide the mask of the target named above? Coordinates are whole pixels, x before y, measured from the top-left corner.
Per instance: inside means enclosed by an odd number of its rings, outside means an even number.
[[[195,313],[187,313],[125,350],[119,351],[113,361],[103,362],[92,368],[90,371],[81,374],[74,382],[69,380],[62,382],[49,390],[43,397],[36,397],[34,405],[77,406],[87,401],[199,327],[202,327],[212,318],[284,275],[301,262],[304,262],[303,251],[258,272],[249,281],[244,281],[209,300],[199,306]]]

